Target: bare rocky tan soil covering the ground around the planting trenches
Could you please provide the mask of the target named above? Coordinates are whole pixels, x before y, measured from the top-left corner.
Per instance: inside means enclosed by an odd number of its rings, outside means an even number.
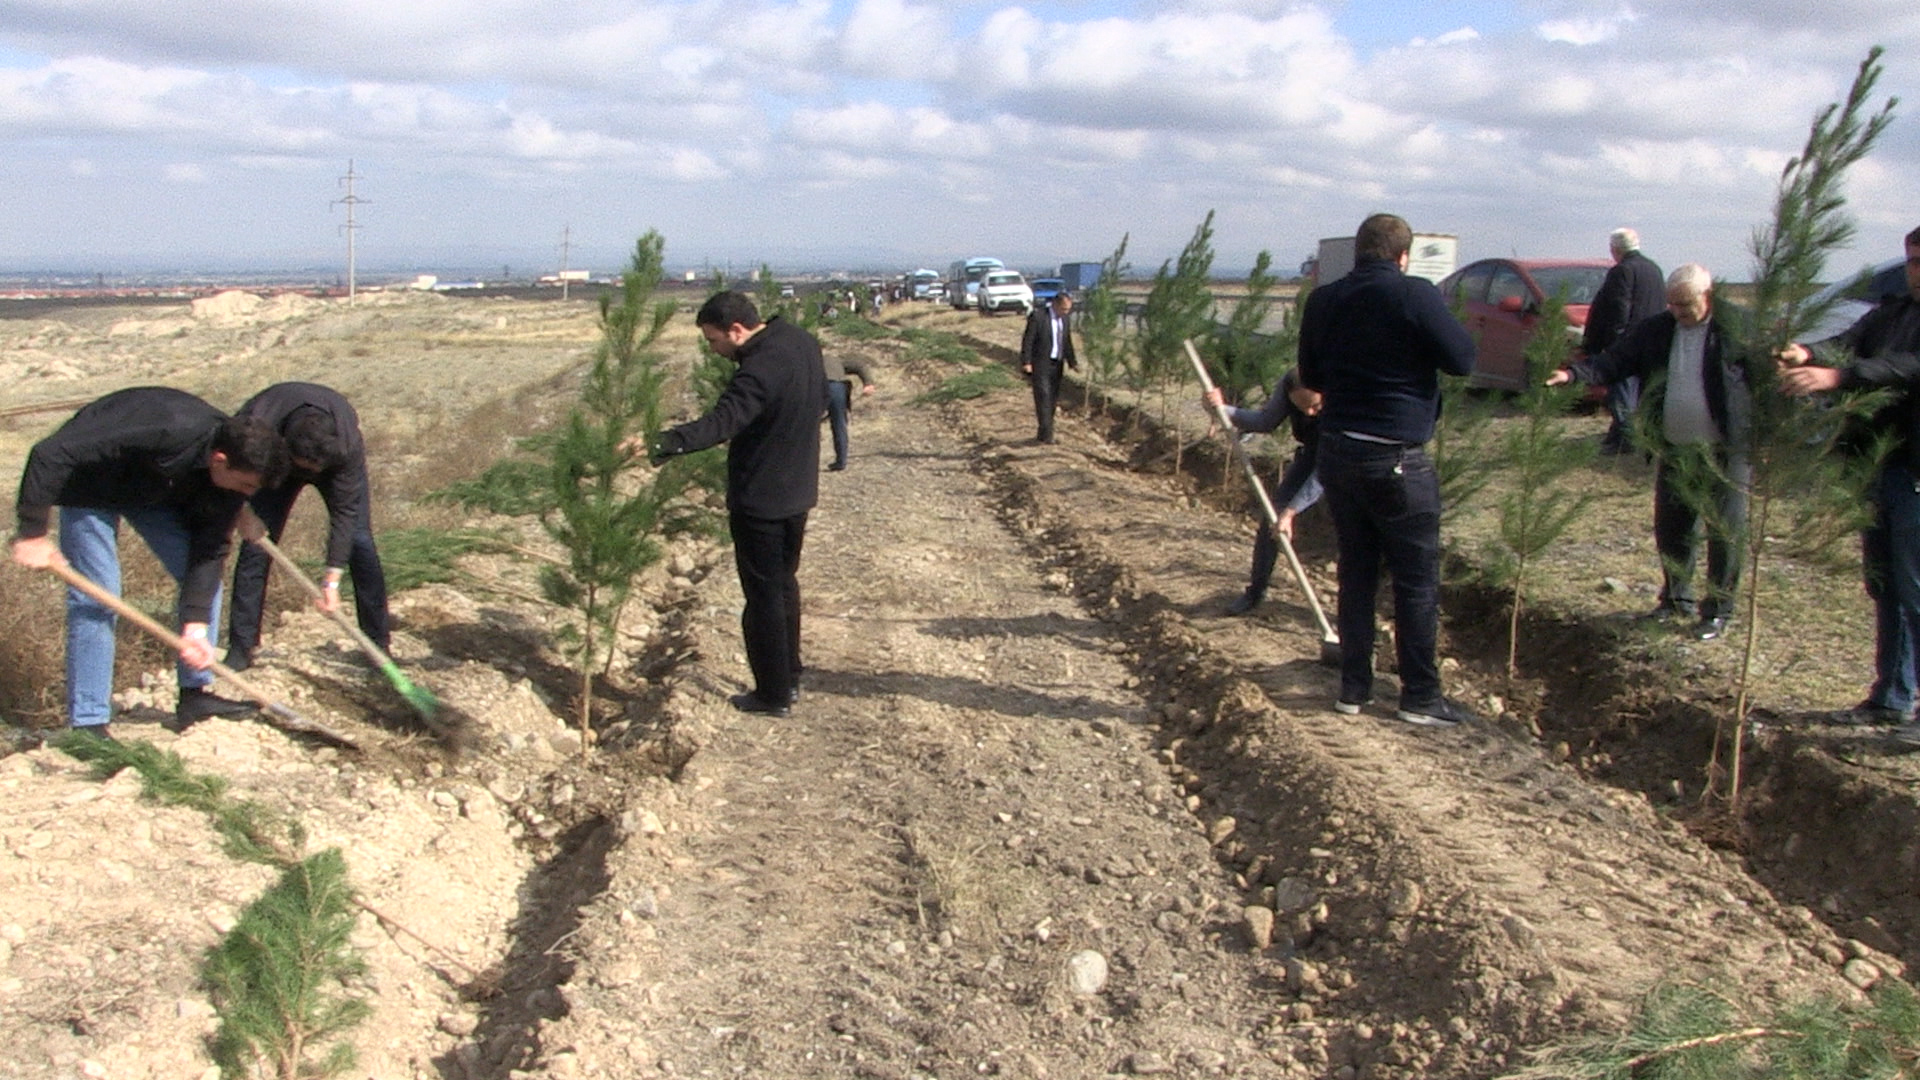
[[[993,361],[1018,336],[900,319]],[[505,450],[591,336],[578,306],[430,296],[88,311],[0,321],[0,384],[10,404],[154,380],[238,404],[328,380],[384,450],[376,484],[397,494],[376,515],[407,519],[484,463],[465,442],[445,461],[451,432],[497,427]],[[1749,859],[1688,832],[1624,749],[1599,769],[1557,748],[1571,721],[1338,717],[1284,577],[1261,615],[1219,615],[1246,517],[1152,444],[1075,413],[1035,446],[1023,390],[918,404],[956,369],[829,342],[870,354],[881,390],[856,404],[852,467],[822,477],[791,719],[728,709],[739,594],[703,544],[649,577],[586,753],[536,571],[507,555],[396,601],[396,653],[470,721],[467,751],[298,609],[259,678],[357,751],[257,723],[173,736],[171,676],[127,686],[123,738],[346,851],[380,911],[355,936],[374,1015],[353,1076],[1494,1076],[1620,1022],[1659,978],[1859,995],[1912,959],[1912,830],[1870,867],[1836,855],[1910,826],[1905,765],[1768,736]],[[58,419],[0,421],[0,465]],[[1494,715],[1475,640],[1450,628],[1448,678]],[[15,744],[0,1074],[215,1076],[198,963],[267,872],[131,776]],[[1788,811],[1836,776],[1855,824]]]

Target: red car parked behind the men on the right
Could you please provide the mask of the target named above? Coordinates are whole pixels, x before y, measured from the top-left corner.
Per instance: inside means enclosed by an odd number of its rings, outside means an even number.
[[[1480,259],[1446,277],[1440,294],[1478,344],[1471,384],[1524,390],[1521,352],[1534,336],[1542,304],[1559,296],[1567,304],[1567,325],[1578,336],[1609,269],[1613,259]]]

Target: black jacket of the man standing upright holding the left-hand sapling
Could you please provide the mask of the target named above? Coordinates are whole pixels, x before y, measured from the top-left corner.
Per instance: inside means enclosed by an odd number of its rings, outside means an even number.
[[[662,438],[668,454],[730,442],[726,507],[760,519],[806,513],[820,498],[820,413],[828,407],[820,342],[772,317],[733,354],[739,369],[697,421]]]

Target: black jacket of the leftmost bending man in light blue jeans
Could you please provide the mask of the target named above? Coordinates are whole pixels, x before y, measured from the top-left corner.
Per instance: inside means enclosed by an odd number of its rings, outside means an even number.
[[[117,390],[35,444],[19,479],[19,536],[46,536],[56,505],[171,509],[188,530],[180,621],[205,623],[244,496],[213,484],[207,455],[225,413],[165,386]]]

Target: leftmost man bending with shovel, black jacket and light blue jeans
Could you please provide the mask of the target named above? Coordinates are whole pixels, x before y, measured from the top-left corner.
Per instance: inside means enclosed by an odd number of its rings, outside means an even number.
[[[84,405],[27,454],[19,479],[13,561],[46,569],[65,561],[119,594],[119,525],[125,521],[180,582],[179,726],[253,711],[207,690],[219,632],[221,577],[246,496],[278,484],[286,446],[257,419],[227,417],[180,390],[138,386]],[[48,536],[60,507],[60,544]],[[67,723],[113,738],[111,607],[67,590]]]

